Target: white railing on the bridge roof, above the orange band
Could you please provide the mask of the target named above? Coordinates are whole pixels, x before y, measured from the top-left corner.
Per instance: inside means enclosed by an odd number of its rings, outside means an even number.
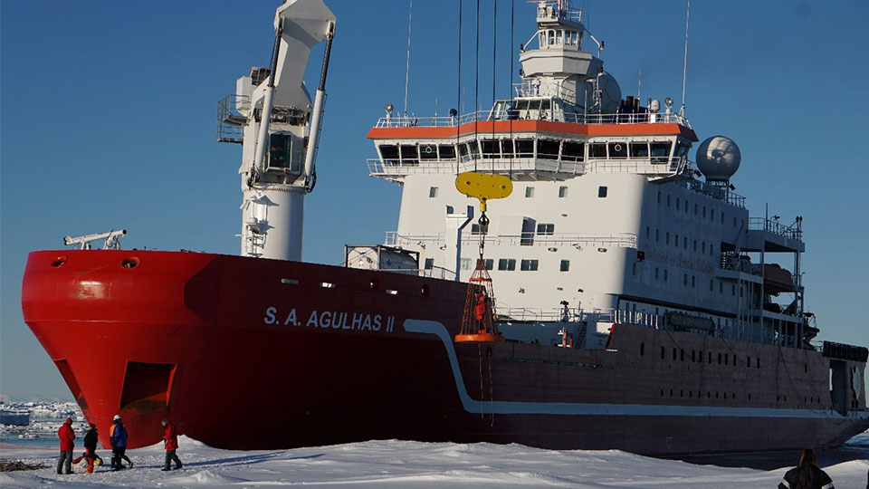
[[[549,120],[570,124],[662,124],[677,123],[691,128],[688,120],[675,112],[640,114],[574,114],[554,110],[477,110],[456,117],[387,116],[377,119],[375,128],[442,128],[489,120]]]

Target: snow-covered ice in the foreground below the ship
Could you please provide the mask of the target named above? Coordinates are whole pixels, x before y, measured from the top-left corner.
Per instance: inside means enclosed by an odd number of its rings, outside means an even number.
[[[80,448],[76,447],[76,455]],[[617,450],[558,451],[520,445],[369,441],[292,450],[232,451],[182,436],[184,467],[161,472],[160,445],[131,450],[135,468],[95,474],[56,475],[56,449],[2,445],[0,456],[41,461],[50,468],[0,473],[6,487],[280,487],[408,488],[571,487],[769,488],[789,467],[761,471],[659,460]],[[110,454],[98,452],[108,465]],[[836,487],[863,488],[869,460],[824,467]]]

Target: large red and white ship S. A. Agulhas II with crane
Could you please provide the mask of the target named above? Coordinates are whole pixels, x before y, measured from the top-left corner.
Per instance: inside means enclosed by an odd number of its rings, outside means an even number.
[[[623,98],[580,10],[534,14],[520,82],[489,110],[387,104],[367,165],[402,187],[397,227],[333,266],[301,260],[301,232],[336,18],[322,0],[278,7],[270,65],[218,103],[217,139],[242,146],[239,255],[121,249],[116,230],[28,256],[24,321],[88,421],[119,414],[130,447],[168,417],[231,449],[647,455],[839,446],[869,427],[867,349],[818,343],[805,309],[802,219],[749,215],[731,139],[692,161],[684,106]]]

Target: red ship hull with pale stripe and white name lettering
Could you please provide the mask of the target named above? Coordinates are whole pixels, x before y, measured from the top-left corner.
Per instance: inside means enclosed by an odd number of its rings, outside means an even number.
[[[120,414],[131,447],[157,443],[162,417],[234,449],[402,438],[673,455],[836,446],[869,427],[864,392],[845,415],[816,397],[828,366],[814,351],[737,342],[811,367],[787,392],[812,401],[782,403],[785,390],[767,392],[781,369],[662,361],[648,351],[670,345],[647,328],[619,325],[607,351],[456,344],[465,292],[239,256],[43,251],[28,258],[22,305],[88,420],[105,428]],[[720,341],[666,337],[709,351]]]

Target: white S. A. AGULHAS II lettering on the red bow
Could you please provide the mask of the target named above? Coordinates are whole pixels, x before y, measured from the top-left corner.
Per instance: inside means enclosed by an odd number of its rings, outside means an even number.
[[[308,318],[303,321],[303,318]],[[302,319],[300,319],[302,318]],[[322,328],[324,330],[356,330],[373,332],[392,332],[396,327],[396,317],[385,314],[369,314],[366,312],[341,311],[311,311],[308,314],[296,312],[292,308],[285,315],[278,308],[269,307],[265,310],[263,324],[282,324],[283,326],[304,326],[306,328]]]

